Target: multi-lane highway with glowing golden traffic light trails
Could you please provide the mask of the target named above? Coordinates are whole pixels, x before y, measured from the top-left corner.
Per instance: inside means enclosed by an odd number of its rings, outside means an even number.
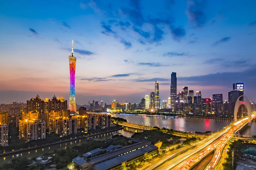
[[[255,117],[255,114],[252,115],[252,118]],[[211,162],[205,168],[206,170],[215,169],[220,160],[223,147],[225,147],[226,143],[233,138],[235,131],[241,128],[246,122],[248,118],[244,118],[241,121],[233,123],[228,126],[228,128],[216,132],[210,137],[205,138],[202,141],[197,143],[197,147],[193,148],[179,156],[166,161],[161,160],[157,163],[159,166],[149,166],[146,169],[158,169],[158,170],[169,170],[169,169],[189,169],[191,166],[196,164],[199,160],[201,160],[204,156],[209,154],[209,152],[215,150],[214,156]]]

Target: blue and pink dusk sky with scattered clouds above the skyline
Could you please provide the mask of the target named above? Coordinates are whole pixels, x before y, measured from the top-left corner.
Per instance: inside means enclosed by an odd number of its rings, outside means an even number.
[[[74,40],[76,103],[139,103],[154,91],[223,94],[244,83],[256,101],[256,1],[0,2],[0,103],[69,99]]]

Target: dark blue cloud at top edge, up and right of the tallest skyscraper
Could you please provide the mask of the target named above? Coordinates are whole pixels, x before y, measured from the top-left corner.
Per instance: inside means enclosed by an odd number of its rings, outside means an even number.
[[[205,8],[207,4],[206,0],[189,0],[187,3],[189,21],[196,27],[203,27],[205,25],[207,19]]]

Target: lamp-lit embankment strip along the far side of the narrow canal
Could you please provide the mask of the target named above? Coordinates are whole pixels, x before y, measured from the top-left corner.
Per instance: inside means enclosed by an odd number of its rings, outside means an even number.
[[[123,128],[118,128],[118,129],[115,129],[115,130],[99,132],[99,133],[94,133],[94,134],[90,134],[90,135],[83,135],[82,137],[78,137],[78,138],[75,137],[75,138],[66,139],[66,140],[62,140],[62,141],[58,141],[58,142],[54,142],[54,143],[47,143],[46,145],[41,145],[41,146],[36,146],[36,147],[29,147],[29,148],[13,150],[13,151],[7,151],[7,152],[4,152],[4,153],[0,154],[0,157],[5,156],[5,155],[17,154],[19,152],[29,151],[29,150],[32,150],[32,149],[38,149],[38,148],[43,148],[43,147],[52,146],[52,145],[56,145],[56,144],[61,144],[61,143],[65,143],[65,142],[68,142],[68,141],[74,141],[74,140],[77,140],[77,139],[84,139],[84,138],[92,139],[92,137],[94,137],[96,135],[115,132],[115,131],[119,131],[119,130],[122,130],[122,129]]]

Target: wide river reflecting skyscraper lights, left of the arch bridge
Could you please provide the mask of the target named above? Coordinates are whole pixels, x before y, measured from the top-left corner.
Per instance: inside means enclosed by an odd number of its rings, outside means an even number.
[[[206,132],[219,131],[229,125],[231,121],[211,120],[209,118],[164,118],[152,116],[135,116],[135,115],[117,115],[130,123],[141,124],[146,126],[157,126],[159,128],[173,129],[185,132]]]

